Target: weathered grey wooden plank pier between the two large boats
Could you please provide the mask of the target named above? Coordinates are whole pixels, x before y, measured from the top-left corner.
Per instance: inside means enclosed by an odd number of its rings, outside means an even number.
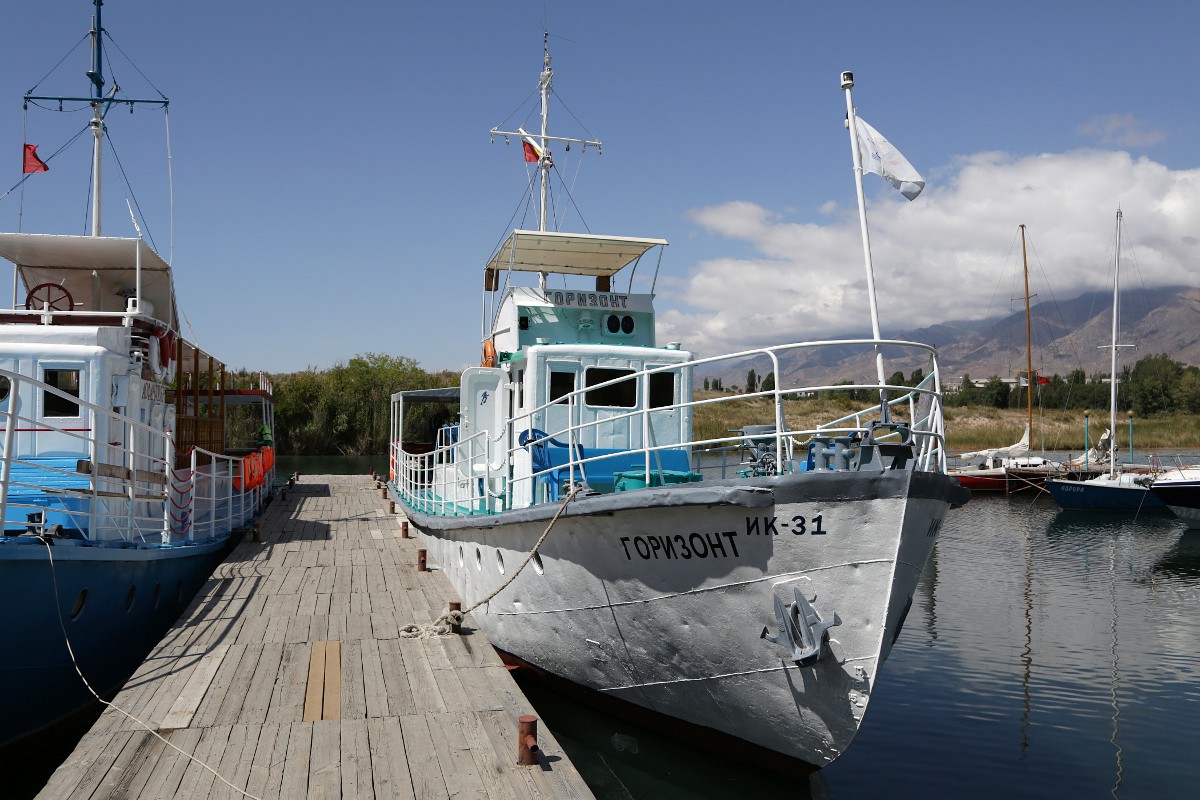
[[[455,595],[401,521],[371,477],[301,476],[115,698],[162,739],[106,709],[38,796],[590,798],[545,726],[516,763],[533,709],[469,615],[403,636]]]

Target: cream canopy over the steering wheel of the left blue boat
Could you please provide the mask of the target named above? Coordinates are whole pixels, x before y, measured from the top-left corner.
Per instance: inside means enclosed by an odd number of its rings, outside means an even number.
[[[125,312],[138,288],[142,257],[142,307],[179,329],[170,265],[140,239],[0,234],[0,257],[17,266],[26,289],[42,283],[66,288],[76,311]]]

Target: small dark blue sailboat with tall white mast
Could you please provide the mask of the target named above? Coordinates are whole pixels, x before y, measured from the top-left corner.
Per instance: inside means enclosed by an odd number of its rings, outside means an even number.
[[[1117,350],[1121,331],[1121,228],[1124,217],[1117,209],[1116,258],[1112,266],[1112,343],[1109,365],[1109,431],[1117,429]],[[1163,500],[1150,491],[1154,475],[1148,469],[1117,467],[1116,437],[1109,438],[1108,471],[1087,480],[1067,477],[1046,481],[1046,488],[1061,509],[1070,511],[1148,511],[1163,509]],[[1132,445],[1130,445],[1132,446]]]

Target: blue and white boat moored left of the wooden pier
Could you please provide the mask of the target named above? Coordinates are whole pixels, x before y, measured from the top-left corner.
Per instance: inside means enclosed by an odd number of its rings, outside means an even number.
[[[91,96],[25,95],[91,106],[91,235],[0,234],[28,289],[0,311],[0,745],[114,693],[274,483],[269,381],[234,387],[172,266],[101,234],[107,112],[167,101],[104,92],[95,6]]]

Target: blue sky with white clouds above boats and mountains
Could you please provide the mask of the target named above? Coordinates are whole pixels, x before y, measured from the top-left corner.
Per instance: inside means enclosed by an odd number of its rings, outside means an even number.
[[[587,228],[671,242],[660,341],[715,355],[870,330],[842,70],[859,114],[929,184],[908,203],[866,176],[884,336],[1008,313],[1020,223],[1055,297],[1110,287],[1118,205],[1129,279],[1196,285],[1195,4],[107,0],[103,13],[170,98],[173,224],[162,113],[109,115],[132,197],[173,255],[196,338],[233,367],[367,351],[478,362],[482,266],[527,180],[517,144],[488,130],[536,122],[547,28],[569,109],[552,106],[552,132],[604,142],[582,161],[556,150]],[[23,139],[46,156],[86,124],[25,115],[22,96],[86,91],[85,42],[37,82],[90,16],[88,0],[6,10],[0,192],[20,179]],[[154,96],[109,59],[126,96]],[[0,200],[0,229],[86,233],[88,160],[80,139]],[[130,193],[104,169],[104,233],[133,235]],[[580,230],[558,197],[559,227]]]

